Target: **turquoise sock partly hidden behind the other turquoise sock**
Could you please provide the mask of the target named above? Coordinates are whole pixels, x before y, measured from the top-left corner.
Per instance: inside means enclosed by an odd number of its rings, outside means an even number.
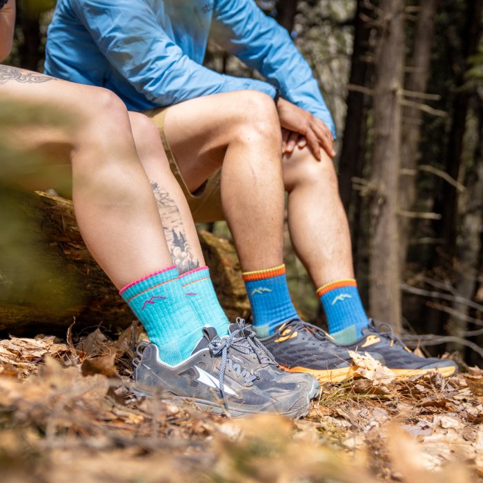
[[[195,270],[179,275],[179,280],[186,298],[193,306],[201,323],[215,327],[220,337],[227,335],[230,322],[218,302],[208,267],[195,268]]]

